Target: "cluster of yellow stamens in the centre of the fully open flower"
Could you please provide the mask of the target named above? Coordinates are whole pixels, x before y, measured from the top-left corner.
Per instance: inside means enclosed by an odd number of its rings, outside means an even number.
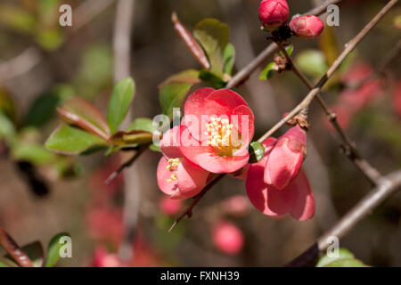
[[[241,146],[241,142],[233,143],[233,124],[228,118],[211,118],[206,124],[206,130],[208,145],[217,148],[222,156],[233,155],[233,149]],[[237,140],[239,139],[237,138]]]

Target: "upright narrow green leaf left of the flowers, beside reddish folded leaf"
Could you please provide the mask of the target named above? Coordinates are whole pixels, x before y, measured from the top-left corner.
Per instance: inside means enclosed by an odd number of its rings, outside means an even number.
[[[109,102],[109,110],[107,112],[107,122],[109,123],[111,134],[117,132],[119,124],[126,118],[134,95],[135,82],[131,77],[119,81],[119,83],[114,86]]]

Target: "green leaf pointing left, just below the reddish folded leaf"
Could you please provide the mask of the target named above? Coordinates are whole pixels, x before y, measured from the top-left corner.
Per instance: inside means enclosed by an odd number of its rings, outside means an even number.
[[[100,137],[89,134],[77,127],[60,126],[45,142],[45,148],[63,154],[78,154],[94,145],[106,144]]]

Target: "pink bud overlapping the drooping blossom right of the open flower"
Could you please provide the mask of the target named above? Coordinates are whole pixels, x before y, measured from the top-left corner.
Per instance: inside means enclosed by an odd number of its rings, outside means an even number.
[[[273,141],[270,141],[270,146]],[[282,190],[299,174],[306,156],[307,134],[298,125],[283,134],[266,159],[264,180],[268,185]]]

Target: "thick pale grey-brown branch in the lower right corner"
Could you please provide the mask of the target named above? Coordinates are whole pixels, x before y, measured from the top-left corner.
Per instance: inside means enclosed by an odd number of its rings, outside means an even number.
[[[316,242],[307,248],[300,256],[293,259],[286,266],[301,267],[310,265],[315,261],[319,253],[327,249],[331,243],[330,237],[338,239],[344,237],[354,226],[364,217],[369,216],[372,210],[395,194],[401,186],[401,170],[397,170],[389,175],[381,177],[377,186],[372,189],[363,199],[361,199],[339,222],[334,224],[328,232],[325,232]]]

